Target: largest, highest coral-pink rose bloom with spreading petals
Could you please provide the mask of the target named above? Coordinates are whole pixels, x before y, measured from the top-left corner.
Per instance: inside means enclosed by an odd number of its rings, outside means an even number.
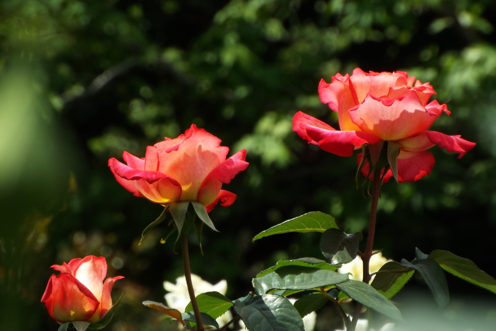
[[[360,68],[353,74],[336,74],[331,83],[320,81],[318,93],[323,103],[338,113],[341,131],[307,114],[298,112],[293,118],[293,130],[321,149],[351,156],[356,148],[365,144],[388,141],[397,144],[397,176],[400,182],[412,182],[429,175],[434,167],[434,156],[425,151],[439,145],[448,152],[459,153],[459,158],[474,148],[475,143],[460,138],[427,131],[445,112],[446,105],[436,100],[428,103],[435,94],[429,83],[422,84],[406,72],[370,72]],[[359,162],[361,154],[359,154]],[[368,165],[362,168],[367,175]],[[393,175],[388,170],[387,182]]]

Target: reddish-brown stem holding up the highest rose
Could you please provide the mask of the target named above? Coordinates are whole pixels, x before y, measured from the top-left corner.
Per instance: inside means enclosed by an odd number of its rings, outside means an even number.
[[[367,236],[367,246],[365,247],[365,253],[362,256],[363,268],[364,268],[364,283],[368,284],[371,280],[372,276],[369,271],[369,265],[372,257],[372,246],[373,246],[373,237],[375,234],[375,216],[377,215],[377,203],[379,201],[380,195],[380,184],[381,184],[381,169],[377,167],[373,173],[373,187],[372,187],[372,206],[371,206],[371,217],[369,220],[369,235]],[[357,302],[355,306],[355,313],[353,314],[353,320],[351,322],[351,328],[349,331],[355,331],[357,327],[358,318],[360,317],[360,313],[362,312],[362,304]]]

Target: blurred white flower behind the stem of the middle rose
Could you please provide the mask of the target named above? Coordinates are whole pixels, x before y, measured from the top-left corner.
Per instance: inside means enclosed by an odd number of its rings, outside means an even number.
[[[201,279],[200,276],[191,274],[191,282],[193,283],[194,294],[196,296],[205,292],[219,292],[222,295],[226,295],[227,292],[227,281],[225,279],[219,281],[217,284],[210,284],[208,281]],[[189,294],[187,292],[186,277],[178,277],[176,279],[176,284],[164,281],[164,288],[166,291],[170,292],[165,295],[167,306],[184,313],[185,308],[190,301]],[[232,318],[233,315],[231,312],[227,311],[216,321],[219,323],[219,326],[222,327],[231,321]]]

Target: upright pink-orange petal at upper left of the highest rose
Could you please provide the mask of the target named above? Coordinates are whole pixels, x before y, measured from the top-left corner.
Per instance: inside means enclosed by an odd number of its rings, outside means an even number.
[[[341,77],[338,77],[341,78]],[[357,103],[353,100],[348,77],[344,81],[332,77],[330,84],[323,79],[318,85],[320,101],[328,103],[329,108],[338,113],[339,127],[341,131],[361,131],[350,119],[348,110],[355,107]]]

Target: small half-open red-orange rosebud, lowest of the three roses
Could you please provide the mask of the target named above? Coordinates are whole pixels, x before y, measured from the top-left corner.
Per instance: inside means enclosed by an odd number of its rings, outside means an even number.
[[[103,257],[73,259],[69,264],[52,265],[52,268],[61,274],[50,277],[41,302],[60,324],[100,320],[112,307],[110,293],[114,282],[124,278],[105,279],[107,262]]]

